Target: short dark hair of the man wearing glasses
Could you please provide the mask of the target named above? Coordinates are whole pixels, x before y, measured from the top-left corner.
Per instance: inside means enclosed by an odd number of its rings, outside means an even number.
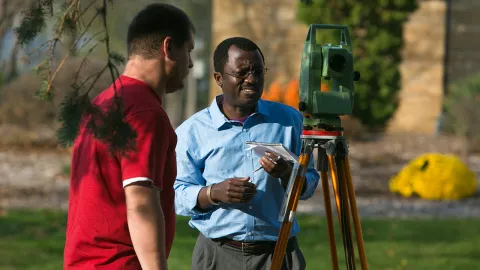
[[[255,42],[244,37],[231,37],[220,42],[213,53],[213,68],[215,72],[220,72],[223,74],[223,68],[228,61],[228,49],[230,49],[232,45],[235,45],[235,47],[241,50],[249,52],[258,50],[262,56],[263,63],[265,63],[265,57],[263,56],[262,50],[260,50]]]

